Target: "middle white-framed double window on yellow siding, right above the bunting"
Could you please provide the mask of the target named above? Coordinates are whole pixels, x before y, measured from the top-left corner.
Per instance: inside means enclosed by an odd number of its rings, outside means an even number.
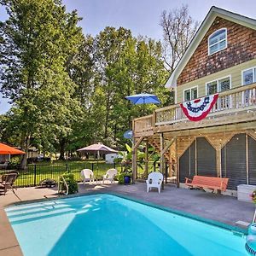
[[[206,95],[212,95],[224,90],[230,90],[231,88],[231,76],[223,79],[217,79],[206,84]]]

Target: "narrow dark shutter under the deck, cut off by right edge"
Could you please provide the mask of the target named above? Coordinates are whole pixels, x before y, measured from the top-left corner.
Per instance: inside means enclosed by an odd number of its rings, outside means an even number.
[[[256,141],[248,136],[249,184],[256,185]]]

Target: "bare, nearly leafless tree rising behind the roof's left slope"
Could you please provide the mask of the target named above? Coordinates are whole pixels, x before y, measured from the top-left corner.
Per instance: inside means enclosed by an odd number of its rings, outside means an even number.
[[[199,23],[189,15],[188,5],[183,5],[169,13],[164,10],[160,15],[160,26],[163,29],[163,58],[172,73],[194,37]]]

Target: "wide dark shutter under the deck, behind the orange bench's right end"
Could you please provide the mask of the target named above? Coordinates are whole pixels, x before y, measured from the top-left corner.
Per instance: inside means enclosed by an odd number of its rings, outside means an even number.
[[[229,177],[228,189],[247,183],[246,135],[237,134],[221,149],[222,177]]]

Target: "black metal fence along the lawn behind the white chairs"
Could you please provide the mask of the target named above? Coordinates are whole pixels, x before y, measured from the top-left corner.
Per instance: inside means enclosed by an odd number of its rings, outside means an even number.
[[[106,164],[96,162],[71,162],[71,163],[54,163],[54,164],[32,164],[28,165],[26,170],[20,170],[19,176],[15,181],[16,187],[38,186],[45,178],[53,178],[56,181],[58,177],[65,172],[74,174],[76,181],[81,181],[81,171],[88,168],[94,172],[95,179],[102,179],[110,168],[116,168],[121,171],[120,164]],[[16,170],[0,170],[0,174],[14,172]]]

